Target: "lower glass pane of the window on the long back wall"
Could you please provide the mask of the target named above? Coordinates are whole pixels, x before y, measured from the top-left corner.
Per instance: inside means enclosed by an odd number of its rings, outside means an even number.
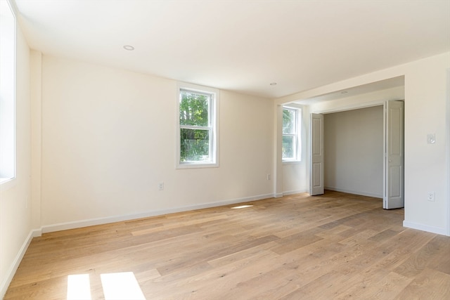
[[[210,160],[210,131],[180,129],[180,161],[204,162]]]

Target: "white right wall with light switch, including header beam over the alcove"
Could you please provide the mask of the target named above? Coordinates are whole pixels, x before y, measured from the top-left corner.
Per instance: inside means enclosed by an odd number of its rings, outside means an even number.
[[[404,226],[450,235],[449,171],[447,171],[446,99],[447,70],[450,68],[450,52],[416,60],[404,65],[380,70],[360,77],[335,82],[317,89],[295,93],[276,99],[276,105],[306,100],[314,96],[349,89],[353,86],[404,76],[405,100],[405,220]],[[373,103],[352,103],[350,107],[364,107]],[[348,109],[348,103],[337,103],[332,108],[311,112]],[[435,133],[436,143],[427,144],[428,133]],[[278,164],[278,162],[277,162]],[[278,183],[277,185],[278,186]],[[428,191],[435,191],[435,202],[427,200]]]

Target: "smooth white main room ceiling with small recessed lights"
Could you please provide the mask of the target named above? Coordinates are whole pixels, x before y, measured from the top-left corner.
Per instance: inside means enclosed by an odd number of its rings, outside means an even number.
[[[450,51],[447,0],[15,5],[44,54],[268,98]]]

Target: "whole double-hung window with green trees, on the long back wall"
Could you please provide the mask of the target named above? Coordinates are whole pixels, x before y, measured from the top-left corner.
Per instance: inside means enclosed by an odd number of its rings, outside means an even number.
[[[217,167],[217,105],[214,89],[179,88],[178,168]]]

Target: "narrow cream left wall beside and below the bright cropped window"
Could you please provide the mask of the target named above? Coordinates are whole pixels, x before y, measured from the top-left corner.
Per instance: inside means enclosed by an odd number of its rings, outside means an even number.
[[[0,298],[31,240],[30,49],[16,29],[16,178],[0,186]]]

